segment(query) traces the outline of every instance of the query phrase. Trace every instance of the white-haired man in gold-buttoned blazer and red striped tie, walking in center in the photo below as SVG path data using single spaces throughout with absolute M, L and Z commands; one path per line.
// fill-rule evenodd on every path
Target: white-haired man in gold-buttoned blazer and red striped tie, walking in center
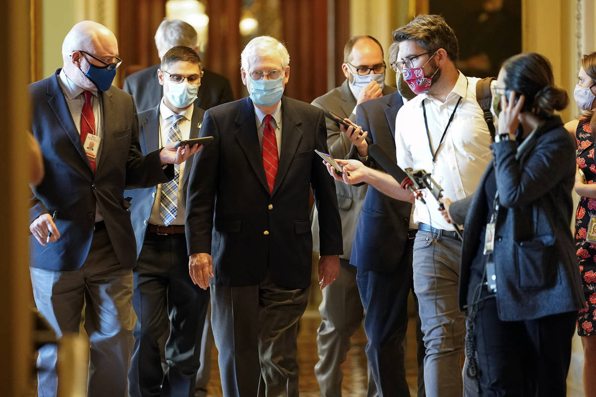
M 210 286 L 224 396 L 297 396 L 297 324 L 311 285 L 309 189 L 319 210 L 321 289 L 339 274 L 342 254 L 335 186 L 315 154 L 327 152 L 325 116 L 283 96 L 290 57 L 278 40 L 252 39 L 241 60 L 250 96 L 205 113 L 201 136 L 215 139 L 190 171 L 190 274 Z

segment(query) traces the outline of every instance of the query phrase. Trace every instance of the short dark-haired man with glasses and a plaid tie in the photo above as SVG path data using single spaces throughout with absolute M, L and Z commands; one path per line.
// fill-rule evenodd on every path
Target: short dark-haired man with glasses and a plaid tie
M 163 98 L 153 109 L 139 113 L 143 154 L 169 142 L 198 137 L 203 121 L 204 110 L 195 105 L 203 70 L 193 49 L 169 49 L 157 76 Z M 131 397 L 194 396 L 195 374 L 202 364 L 201 335 L 209 292 L 194 285 L 188 276 L 184 218 L 193 158 L 175 166 L 170 182 L 126 192 L 132 197 L 131 220 L 138 255 L 133 272 L 132 304 L 137 322 L 129 371 Z M 165 373 L 159 344 L 164 333 L 169 333 Z

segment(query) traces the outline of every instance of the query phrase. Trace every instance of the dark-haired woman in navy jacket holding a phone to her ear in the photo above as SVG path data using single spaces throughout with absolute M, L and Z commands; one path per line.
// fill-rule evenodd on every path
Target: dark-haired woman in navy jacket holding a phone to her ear
M 576 312 L 583 307 L 569 224 L 575 142 L 555 110 L 567 93 L 550 62 L 508 58 L 493 86 L 493 161 L 468 202 L 460 271 L 467 357 L 483 396 L 565 396 Z M 474 360 L 471 360 L 474 361 Z

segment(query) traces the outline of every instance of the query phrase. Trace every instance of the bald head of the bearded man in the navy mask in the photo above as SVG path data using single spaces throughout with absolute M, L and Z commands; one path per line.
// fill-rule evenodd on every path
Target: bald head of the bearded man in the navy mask
M 85 54 L 86 53 L 86 54 Z M 91 56 L 92 55 L 92 56 Z M 104 67 L 113 63 L 118 55 L 118 42 L 110 29 L 94 21 L 82 21 L 70 29 L 62 43 L 63 70 L 77 86 L 85 90 L 96 90 L 85 73 L 91 65 Z M 95 57 L 95 58 L 93 58 Z

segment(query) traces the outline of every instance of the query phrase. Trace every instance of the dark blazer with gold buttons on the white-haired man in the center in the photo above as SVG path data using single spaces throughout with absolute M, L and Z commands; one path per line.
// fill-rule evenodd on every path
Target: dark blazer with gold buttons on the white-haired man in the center
M 258 285 L 267 270 L 278 286 L 311 285 L 309 188 L 321 214 L 321 255 L 342 254 L 333 179 L 314 152 L 327 151 L 325 116 L 285 96 L 281 111 L 280 163 L 272 194 L 250 98 L 205 113 L 200 135 L 215 140 L 193 162 L 186 235 L 189 254 L 212 253 L 216 285 Z

